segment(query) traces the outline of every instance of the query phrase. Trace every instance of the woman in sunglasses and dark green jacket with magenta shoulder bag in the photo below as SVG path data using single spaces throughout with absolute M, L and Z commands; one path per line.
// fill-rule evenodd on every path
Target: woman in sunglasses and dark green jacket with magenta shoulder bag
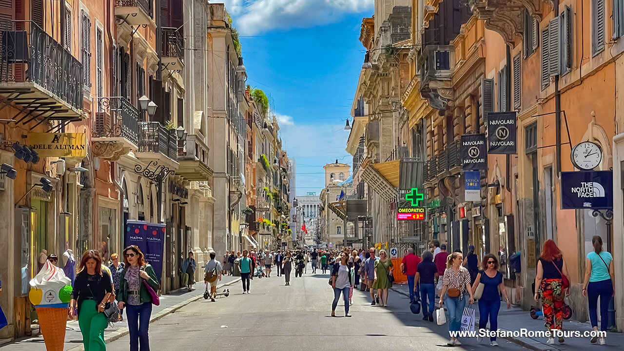
M 124 249 L 125 269 L 120 275 L 119 309 L 126 308 L 130 329 L 130 351 L 150 350 L 149 325 L 152 317 L 152 295 L 145 283 L 158 291 L 160 282 L 154 268 L 145 262 L 139 247 L 130 245 Z

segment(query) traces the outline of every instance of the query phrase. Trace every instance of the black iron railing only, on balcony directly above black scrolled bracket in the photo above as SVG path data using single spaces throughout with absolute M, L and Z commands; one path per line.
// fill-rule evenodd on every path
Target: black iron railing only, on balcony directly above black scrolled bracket
M 160 152 L 177 160 L 178 142 L 175 129 L 168 130 L 159 122 L 139 122 L 139 152 Z

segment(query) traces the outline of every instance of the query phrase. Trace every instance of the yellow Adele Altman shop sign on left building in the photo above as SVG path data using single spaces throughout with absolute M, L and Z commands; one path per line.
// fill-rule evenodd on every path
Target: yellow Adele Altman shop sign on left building
M 26 144 L 41 157 L 85 157 L 84 133 L 28 133 Z

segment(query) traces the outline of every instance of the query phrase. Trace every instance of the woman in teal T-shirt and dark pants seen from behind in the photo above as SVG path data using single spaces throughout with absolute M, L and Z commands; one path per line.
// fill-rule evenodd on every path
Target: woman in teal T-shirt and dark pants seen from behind
M 589 300 L 589 319 L 593 330 L 598 330 L 598 297 L 600 297 L 600 330 L 607 331 L 607 310 L 609 301 L 615 296 L 613 289 L 613 256 L 602 250 L 602 238 L 594 235 L 592 238 L 593 252 L 587 254 L 585 260 L 585 280 L 583 281 L 583 295 Z M 598 341 L 597 336 L 590 339 L 592 344 Z M 605 345 L 605 338 L 600 338 L 600 345 Z

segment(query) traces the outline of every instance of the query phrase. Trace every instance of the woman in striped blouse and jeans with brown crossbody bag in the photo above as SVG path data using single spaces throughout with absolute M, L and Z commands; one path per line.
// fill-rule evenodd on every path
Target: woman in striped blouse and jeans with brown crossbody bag
M 470 289 L 470 273 L 462 262 L 464 258 L 461 252 L 453 252 L 446 260 L 446 270 L 442 279 L 442 292 L 440 294 L 440 307 L 446 305 L 446 320 L 449 322 L 450 332 L 459 332 L 462 326 L 462 315 L 466 307 L 466 293 L 470 296 L 469 303 L 474 303 L 472 289 Z M 459 346 L 457 337 L 452 337 L 447 345 Z

